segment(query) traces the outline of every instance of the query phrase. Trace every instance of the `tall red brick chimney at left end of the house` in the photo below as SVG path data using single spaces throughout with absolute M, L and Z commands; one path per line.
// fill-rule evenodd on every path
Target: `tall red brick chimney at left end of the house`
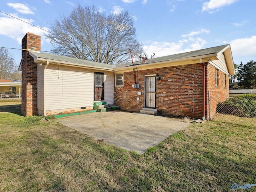
M 24 50 L 25 49 L 25 50 Z M 27 33 L 22 39 L 22 100 L 24 116 L 38 114 L 37 109 L 37 65 L 28 51 L 41 51 L 41 36 Z

